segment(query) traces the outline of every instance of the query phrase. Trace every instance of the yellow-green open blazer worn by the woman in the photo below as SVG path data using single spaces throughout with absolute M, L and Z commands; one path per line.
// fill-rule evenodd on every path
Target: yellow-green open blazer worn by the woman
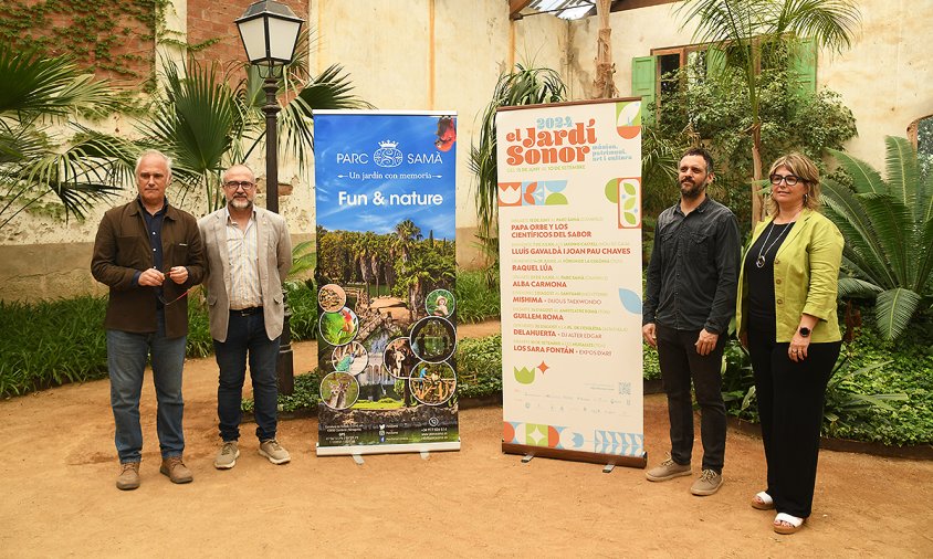
M 747 325 L 745 306 L 748 286 L 745 281 L 745 259 L 765 228 L 774 220 L 758 223 L 752 242 L 742 256 L 738 276 L 738 296 L 735 309 L 735 329 L 741 335 Z M 777 341 L 790 341 L 800 315 L 813 315 L 819 320 L 810 334 L 810 341 L 818 344 L 842 339 L 836 315 L 836 295 L 839 287 L 839 264 L 842 261 L 842 234 L 819 212 L 806 209 L 797 218 L 787 239 L 780 244 L 774 260 L 774 300 L 777 318 Z

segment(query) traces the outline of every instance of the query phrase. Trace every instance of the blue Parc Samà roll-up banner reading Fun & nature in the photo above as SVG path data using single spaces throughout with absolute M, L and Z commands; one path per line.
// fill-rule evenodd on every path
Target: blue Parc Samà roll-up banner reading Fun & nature
M 460 449 L 454 113 L 317 110 L 318 455 Z

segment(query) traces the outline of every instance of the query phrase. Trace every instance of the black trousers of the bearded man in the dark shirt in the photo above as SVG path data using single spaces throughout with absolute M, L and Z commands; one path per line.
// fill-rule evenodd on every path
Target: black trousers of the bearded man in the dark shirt
M 722 357 L 725 336 L 720 336 L 710 355 L 696 352 L 700 330 L 677 330 L 656 325 L 658 362 L 668 395 L 671 420 L 671 458 L 690 464 L 693 453 L 693 400 L 690 383 L 700 404 L 700 439 L 703 470 L 722 473 L 725 457 L 725 404 L 722 394 Z

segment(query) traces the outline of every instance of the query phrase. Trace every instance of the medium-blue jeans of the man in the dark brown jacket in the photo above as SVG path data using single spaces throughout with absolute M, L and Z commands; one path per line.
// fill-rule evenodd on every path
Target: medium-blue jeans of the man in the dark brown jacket
M 119 462 L 139 462 L 143 457 L 143 430 L 139 426 L 139 395 L 146 360 L 153 358 L 153 384 L 158 412 L 156 432 L 163 458 L 180 456 L 185 451 L 181 419 L 181 368 L 185 365 L 186 337 L 166 338 L 165 317 L 158 313 L 155 334 L 107 330 L 107 368 L 111 375 L 111 408 L 116 424 Z

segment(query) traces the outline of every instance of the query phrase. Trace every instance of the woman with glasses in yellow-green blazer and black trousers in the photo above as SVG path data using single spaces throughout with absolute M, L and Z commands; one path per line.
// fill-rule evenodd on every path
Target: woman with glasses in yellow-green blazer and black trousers
M 813 161 L 787 155 L 769 178 L 769 217 L 742 260 L 735 321 L 752 357 L 768 468 L 767 489 L 752 506 L 777 509 L 774 530 L 794 534 L 810 516 L 826 384 L 841 347 L 836 294 L 843 241 L 817 211 Z

